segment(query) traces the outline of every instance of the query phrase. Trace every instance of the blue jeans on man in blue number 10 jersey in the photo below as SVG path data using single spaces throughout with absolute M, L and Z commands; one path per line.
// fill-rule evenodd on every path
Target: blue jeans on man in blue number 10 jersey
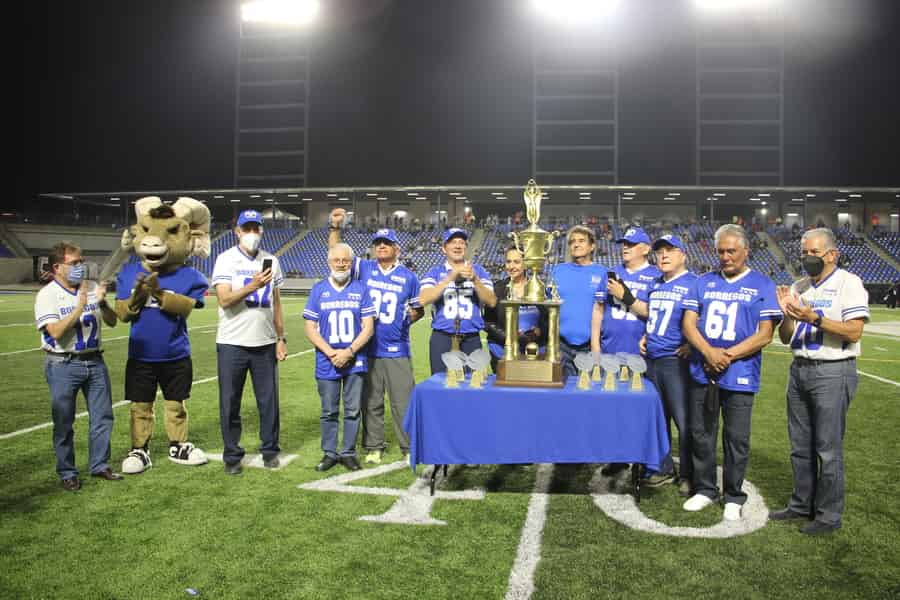
M 363 375 L 351 373 L 341 379 L 317 379 L 322 401 L 322 451 L 331 457 L 356 456 L 356 435 L 359 433 L 359 403 L 362 399 Z M 344 435 L 341 450 L 337 449 L 338 415 L 341 410 L 341 388 L 344 391 Z

